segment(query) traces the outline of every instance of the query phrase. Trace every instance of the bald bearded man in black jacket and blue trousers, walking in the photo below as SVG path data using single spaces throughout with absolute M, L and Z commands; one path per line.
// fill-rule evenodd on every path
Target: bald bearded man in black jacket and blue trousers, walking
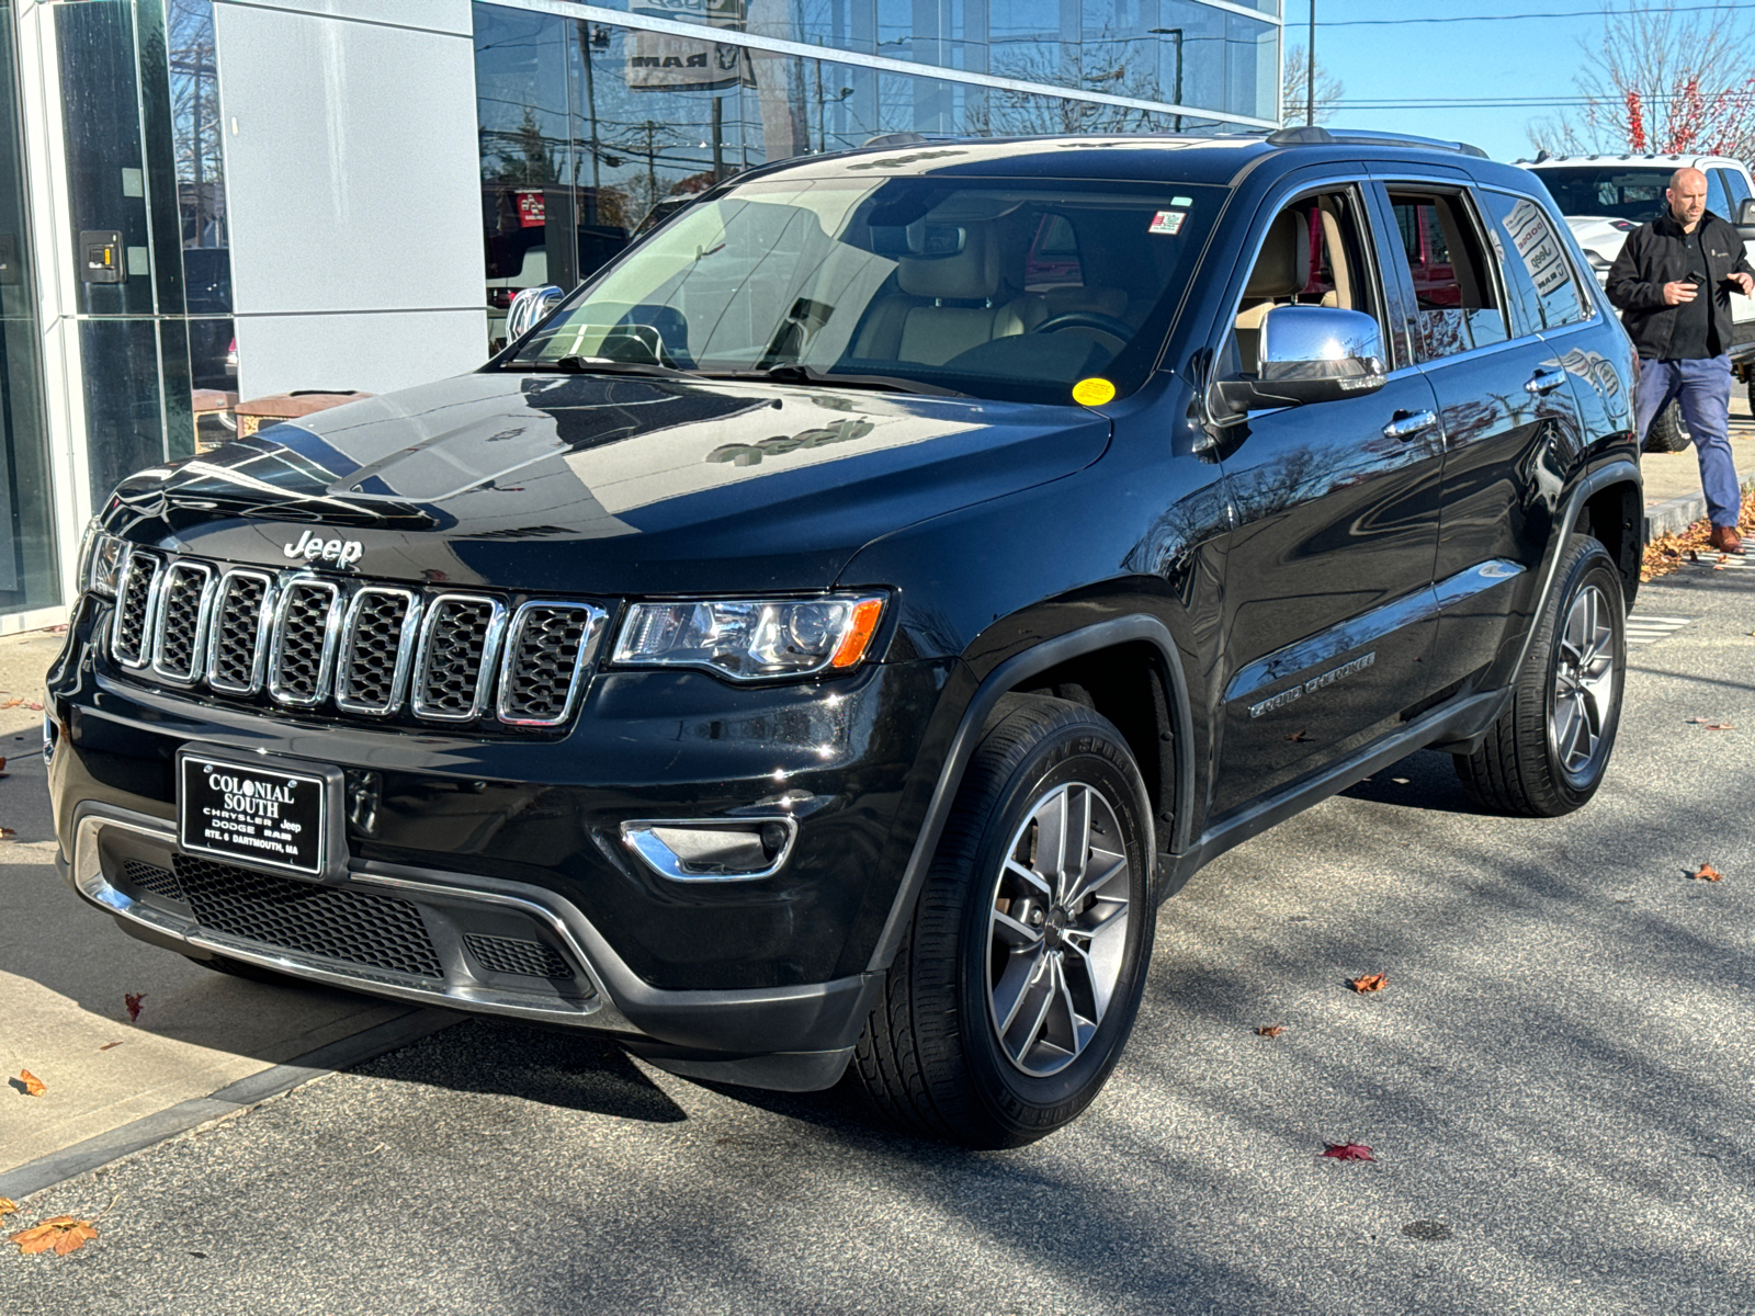
M 1755 270 L 1729 221 L 1706 209 L 1706 175 L 1678 168 L 1664 212 L 1634 230 L 1609 268 L 1609 300 L 1639 351 L 1639 442 L 1651 419 L 1681 402 L 1701 460 L 1711 546 L 1743 553 L 1743 495 L 1730 456 L 1730 290 L 1755 295 Z

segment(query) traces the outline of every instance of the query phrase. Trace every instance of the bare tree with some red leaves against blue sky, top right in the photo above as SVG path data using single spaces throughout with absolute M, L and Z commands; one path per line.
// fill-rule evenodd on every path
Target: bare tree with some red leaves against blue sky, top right
M 1555 153 L 1632 151 L 1755 156 L 1755 56 L 1737 11 L 1604 11 L 1602 35 L 1580 40 L 1572 79 L 1583 105 L 1529 125 Z

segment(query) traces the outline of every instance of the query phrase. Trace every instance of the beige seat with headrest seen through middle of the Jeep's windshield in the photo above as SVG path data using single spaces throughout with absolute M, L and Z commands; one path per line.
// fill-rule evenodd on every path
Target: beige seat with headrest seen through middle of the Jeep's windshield
M 1028 333 L 1048 318 L 1041 297 L 993 304 L 1002 283 L 1000 246 L 985 225 L 967 226 L 963 249 L 955 256 L 904 256 L 895 274 L 902 291 L 872 307 L 853 346 L 855 356 L 944 365 L 983 342 Z

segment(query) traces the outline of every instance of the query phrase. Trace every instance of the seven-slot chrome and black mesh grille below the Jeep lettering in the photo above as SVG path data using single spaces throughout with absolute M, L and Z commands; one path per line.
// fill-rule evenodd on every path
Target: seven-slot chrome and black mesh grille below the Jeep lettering
M 111 653 L 137 676 L 295 709 L 560 726 L 577 709 L 609 612 L 353 581 L 230 570 L 133 551 Z M 504 640 L 504 642 L 502 642 Z

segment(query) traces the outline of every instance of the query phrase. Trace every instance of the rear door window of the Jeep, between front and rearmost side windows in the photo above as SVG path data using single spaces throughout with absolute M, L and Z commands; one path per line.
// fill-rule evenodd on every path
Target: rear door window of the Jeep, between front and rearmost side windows
M 1390 188 L 1418 311 L 1422 361 L 1509 337 L 1474 214 L 1462 197 Z

